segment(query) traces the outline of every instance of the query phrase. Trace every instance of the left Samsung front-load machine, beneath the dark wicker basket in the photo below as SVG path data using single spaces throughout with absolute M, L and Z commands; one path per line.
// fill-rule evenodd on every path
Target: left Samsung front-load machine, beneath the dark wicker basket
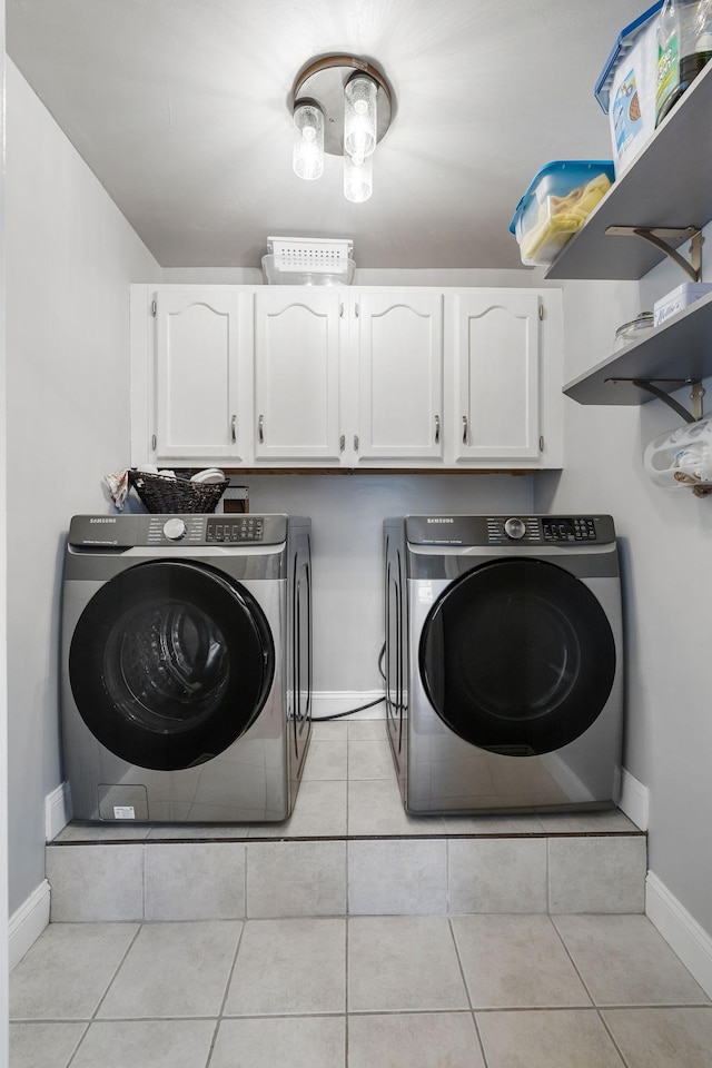
M 279 821 L 312 714 L 310 522 L 79 515 L 62 589 L 75 819 Z

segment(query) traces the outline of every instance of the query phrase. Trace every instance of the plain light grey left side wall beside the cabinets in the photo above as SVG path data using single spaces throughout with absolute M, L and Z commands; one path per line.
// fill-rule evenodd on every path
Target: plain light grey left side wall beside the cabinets
M 7 61 L 10 910 L 44 878 L 44 795 L 61 781 L 63 533 L 106 511 L 129 456 L 128 287 L 159 268 Z

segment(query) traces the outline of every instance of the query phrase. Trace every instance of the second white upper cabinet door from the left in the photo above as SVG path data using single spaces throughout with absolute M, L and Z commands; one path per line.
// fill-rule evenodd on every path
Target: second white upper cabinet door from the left
M 343 297 L 265 287 L 255 299 L 255 458 L 339 463 Z

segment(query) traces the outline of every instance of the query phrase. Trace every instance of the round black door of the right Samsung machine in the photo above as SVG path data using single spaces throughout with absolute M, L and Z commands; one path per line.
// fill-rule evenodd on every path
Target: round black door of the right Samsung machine
M 602 712 L 615 641 L 601 604 L 555 564 L 483 564 L 442 594 L 423 627 L 421 678 L 447 726 L 513 756 L 561 749 Z

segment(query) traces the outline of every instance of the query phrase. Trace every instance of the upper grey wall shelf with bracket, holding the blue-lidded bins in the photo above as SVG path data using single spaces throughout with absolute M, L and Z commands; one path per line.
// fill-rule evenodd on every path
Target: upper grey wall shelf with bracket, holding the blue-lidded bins
M 664 256 L 610 226 L 702 227 L 712 218 L 712 63 L 564 246 L 547 278 L 637 279 Z M 611 402 L 606 402 L 611 403 Z M 624 402 L 631 403 L 631 402 Z

